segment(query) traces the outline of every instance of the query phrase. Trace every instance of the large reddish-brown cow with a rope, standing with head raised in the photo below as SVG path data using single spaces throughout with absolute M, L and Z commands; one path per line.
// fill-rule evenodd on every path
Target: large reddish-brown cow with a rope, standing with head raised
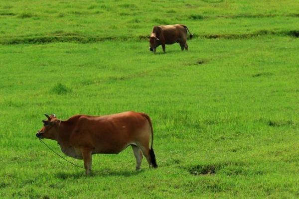
M 54 114 L 45 115 L 48 119 L 43 120 L 44 126 L 36 136 L 56 140 L 65 155 L 83 159 L 86 175 L 91 171 L 92 154 L 118 154 L 129 145 L 136 158 L 136 170 L 140 169 L 143 155 L 149 167 L 157 167 L 152 149 L 151 120 L 145 113 L 129 111 L 104 116 L 74 115 L 67 120 L 57 119 Z

